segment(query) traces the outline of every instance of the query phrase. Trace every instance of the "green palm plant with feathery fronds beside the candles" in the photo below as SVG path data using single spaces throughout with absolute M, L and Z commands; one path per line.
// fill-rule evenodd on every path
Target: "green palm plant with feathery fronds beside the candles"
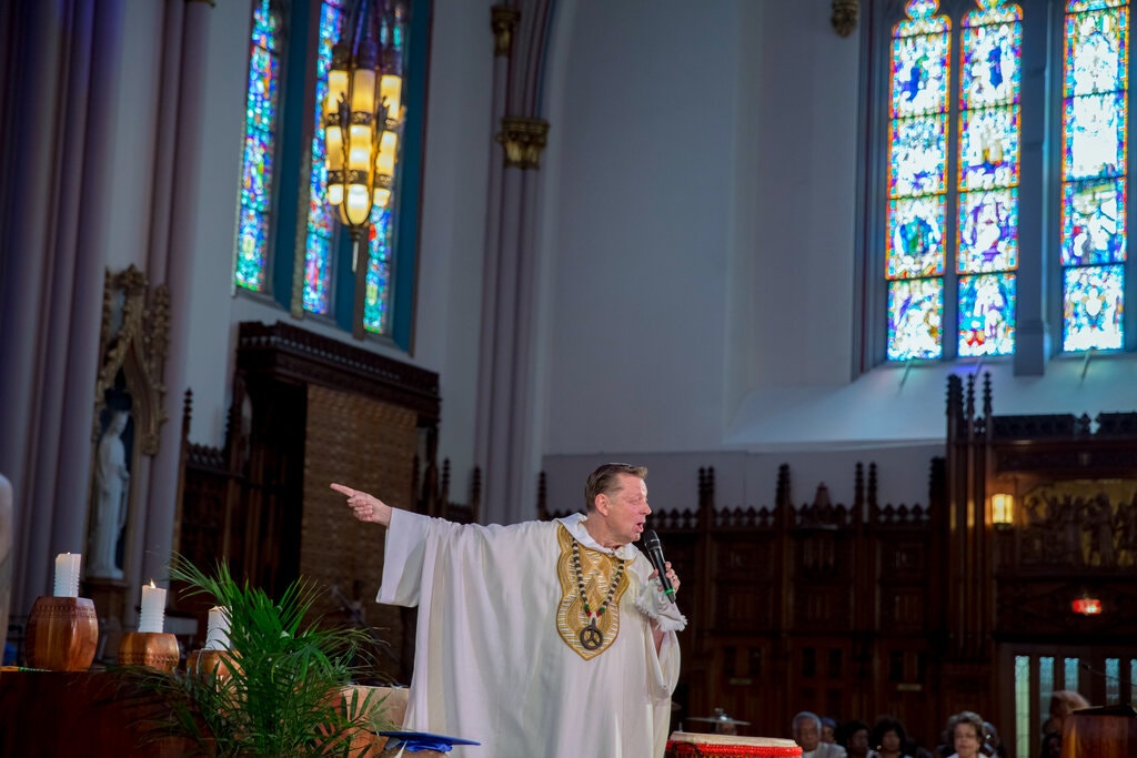
M 384 698 L 349 688 L 358 673 L 354 661 L 371 638 L 309 622 L 316 588 L 297 580 L 274 601 L 234 580 L 224 564 L 210 575 L 180 556 L 171 578 L 184 582 L 189 595 L 209 595 L 225 608 L 229 647 L 209 672 L 122 669 L 155 706 L 148 709 L 144 740 L 179 739 L 191 755 L 211 758 L 377 752 L 367 738 L 393 726 L 383 716 Z

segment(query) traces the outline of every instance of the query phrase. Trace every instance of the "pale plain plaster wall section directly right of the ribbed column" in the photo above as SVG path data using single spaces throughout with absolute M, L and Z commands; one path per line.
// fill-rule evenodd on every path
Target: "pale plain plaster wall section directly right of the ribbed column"
M 566 18 L 546 455 L 717 445 L 737 3 L 580 0 Z

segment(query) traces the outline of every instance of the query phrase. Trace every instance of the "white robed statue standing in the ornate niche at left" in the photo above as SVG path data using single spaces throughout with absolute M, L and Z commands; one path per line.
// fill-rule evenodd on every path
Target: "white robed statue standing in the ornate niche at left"
M 126 526 L 131 473 L 126 466 L 124 432 L 130 419 L 125 410 L 111 411 L 110 422 L 99 438 L 94 461 L 94 509 L 91 530 L 90 577 L 123 577 L 118 565 L 118 540 Z

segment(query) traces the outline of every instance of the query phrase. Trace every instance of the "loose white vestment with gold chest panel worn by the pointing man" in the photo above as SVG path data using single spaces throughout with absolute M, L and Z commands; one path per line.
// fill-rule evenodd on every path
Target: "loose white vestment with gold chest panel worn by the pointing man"
M 600 548 L 583 519 L 481 526 L 393 511 L 377 599 L 418 606 L 405 730 L 481 743 L 455 747 L 455 758 L 662 758 L 679 678 L 674 630 L 686 619 L 673 606 L 662 615 L 670 631 L 657 655 L 640 609 L 659 592 L 646 586 L 650 561 L 634 545 Z M 573 538 L 584 564 L 575 572 Z M 617 589 L 600 616 L 603 645 L 586 650 L 578 577 L 588 584 L 591 566 L 616 559 L 623 578 L 609 570 L 615 581 L 592 594 L 595 613 Z

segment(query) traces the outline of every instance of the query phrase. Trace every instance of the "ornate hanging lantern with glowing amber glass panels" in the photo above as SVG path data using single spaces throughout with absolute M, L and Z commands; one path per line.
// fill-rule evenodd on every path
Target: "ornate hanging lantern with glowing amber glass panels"
M 351 233 L 357 293 L 366 278 L 359 245 L 372 210 L 390 202 L 404 116 L 398 3 L 379 0 L 377 6 L 360 0 L 345 25 L 332 48 L 324 100 L 327 201 Z

